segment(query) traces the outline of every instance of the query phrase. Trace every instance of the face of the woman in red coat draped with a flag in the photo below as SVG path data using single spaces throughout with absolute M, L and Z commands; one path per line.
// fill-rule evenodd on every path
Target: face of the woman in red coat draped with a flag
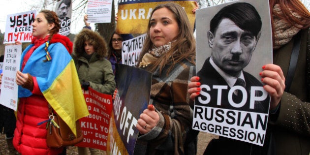
M 45 36 L 54 28 L 55 24 L 49 24 L 44 16 L 44 13 L 37 14 L 32 23 L 32 35 L 38 38 L 45 38 Z

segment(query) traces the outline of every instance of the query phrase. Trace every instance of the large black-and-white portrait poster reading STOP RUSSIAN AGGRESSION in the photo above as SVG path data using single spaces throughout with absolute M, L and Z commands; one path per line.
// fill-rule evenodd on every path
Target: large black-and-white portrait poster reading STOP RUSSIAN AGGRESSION
M 259 72 L 272 63 L 268 0 L 198 9 L 196 35 L 201 92 L 192 128 L 263 146 L 270 96 Z

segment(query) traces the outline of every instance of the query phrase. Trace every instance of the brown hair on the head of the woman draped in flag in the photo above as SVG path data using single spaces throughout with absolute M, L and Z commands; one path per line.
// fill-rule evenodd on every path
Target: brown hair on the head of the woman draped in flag
M 51 10 L 41 10 L 39 13 L 44 14 L 44 17 L 46 18 L 48 24 L 52 24 L 52 23 L 55 24 L 54 28 L 52 30 L 50 30 L 49 40 L 51 40 L 52 36 L 54 34 L 57 34 L 59 29 L 60 29 L 59 18 L 57 16 L 57 14 Z

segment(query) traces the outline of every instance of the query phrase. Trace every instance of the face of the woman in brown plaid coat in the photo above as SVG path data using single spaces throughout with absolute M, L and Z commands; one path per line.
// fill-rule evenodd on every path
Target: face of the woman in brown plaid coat
M 173 41 L 179 33 L 178 22 L 174 14 L 165 7 L 154 11 L 150 25 L 151 41 L 156 47 Z

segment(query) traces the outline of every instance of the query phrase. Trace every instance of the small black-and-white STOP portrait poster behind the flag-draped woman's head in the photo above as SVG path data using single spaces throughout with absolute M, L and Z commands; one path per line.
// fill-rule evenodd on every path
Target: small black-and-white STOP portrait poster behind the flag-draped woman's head
M 59 34 L 69 35 L 71 28 L 71 12 L 72 1 L 71 0 L 59 0 L 56 4 L 55 12 L 60 21 Z

